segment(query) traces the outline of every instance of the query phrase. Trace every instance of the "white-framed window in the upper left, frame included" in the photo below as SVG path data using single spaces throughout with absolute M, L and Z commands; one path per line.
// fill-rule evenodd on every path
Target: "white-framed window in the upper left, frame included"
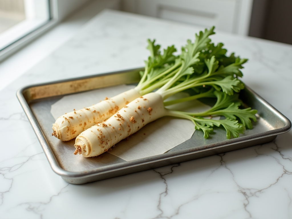
M 0 0 L 0 61 L 90 1 Z

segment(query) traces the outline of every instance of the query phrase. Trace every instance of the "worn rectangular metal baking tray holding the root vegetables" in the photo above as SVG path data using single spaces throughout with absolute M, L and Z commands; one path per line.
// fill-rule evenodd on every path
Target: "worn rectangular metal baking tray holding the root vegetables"
M 239 138 L 227 140 L 224 129 L 216 128 L 216 135 L 204 139 L 203 132 L 194 132 L 192 138 L 164 154 L 133 161 L 125 161 L 109 153 L 99 157 L 74 156 L 74 141 L 62 142 L 52 137 L 55 119 L 50 113 L 51 105 L 64 95 L 89 91 L 119 84 L 133 84 L 140 80 L 139 71 L 132 69 L 98 74 L 21 88 L 17 97 L 55 173 L 65 181 L 82 184 L 125 175 L 151 168 L 206 157 L 274 140 L 277 135 L 288 132 L 291 122 L 263 100 L 250 88 L 240 93 L 248 107 L 258 110 L 254 128 L 246 130 Z

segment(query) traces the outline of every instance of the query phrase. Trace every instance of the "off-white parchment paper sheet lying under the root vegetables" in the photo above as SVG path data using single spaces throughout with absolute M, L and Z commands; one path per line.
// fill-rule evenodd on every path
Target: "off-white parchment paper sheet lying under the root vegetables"
M 67 95 L 53 105 L 51 105 L 51 114 L 55 119 L 59 116 L 71 112 L 74 109 L 82 109 L 91 106 L 105 97 L 112 97 L 121 92 L 134 88 L 133 85 L 120 85 L 109 88 L 102 88 L 94 91 L 87 91 L 78 94 Z M 210 107 L 199 102 L 189 101 L 183 104 L 172 105 L 169 109 L 180 109 L 188 112 L 200 112 Z M 220 117 L 213 118 L 219 119 Z M 187 119 L 175 119 L 172 117 L 162 117 L 150 124 L 147 124 L 138 132 L 129 138 L 122 140 L 115 147 L 112 147 L 111 153 L 126 161 L 150 157 L 163 154 L 173 147 L 190 139 L 194 133 L 194 124 Z M 72 153 L 74 150 L 72 150 Z M 84 158 L 86 159 L 86 158 Z

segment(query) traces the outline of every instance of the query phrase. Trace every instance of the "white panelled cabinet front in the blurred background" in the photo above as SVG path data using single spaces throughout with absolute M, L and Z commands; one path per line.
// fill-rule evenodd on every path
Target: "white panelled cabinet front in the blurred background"
M 253 0 L 122 0 L 122 10 L 248 35 Z

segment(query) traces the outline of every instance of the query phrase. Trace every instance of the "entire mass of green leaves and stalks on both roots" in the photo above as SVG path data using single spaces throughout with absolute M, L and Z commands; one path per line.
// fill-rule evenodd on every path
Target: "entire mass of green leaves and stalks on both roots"
M 213 126 L 223 126 L 227 138 L 236 138 L 245 128 L 252 128 L 256 121 L 256 110 L 241 109 L 239 91 L 244 84 L 241 69 L 247 59 L 236 57 L 234 53 L 227 55 L 223 43 L 215 45 L 209 36 L 214 34 L 214 27 L 195 35 L 195 40 L 187 40 L 181 54 L 173 55 L 177 50 L 169 46 L 161 54 L 160 46 L 155 40 L 148 40 L 147 49 L 150 56 L 145 61 L 145 71 L 141 72 L 141 80 L 137 86 L 141 95 L 158 88 L 164 100 L 178 92 L 191 95 L 187 98 L 165 102 L 165 106 L 199 98 L 217 98 L 217 101 L 206 112 L 188 113 L 166 110 L 170 116 L 190 119 L 195 129 L 202 130 L 208 138 Z M 212 120 L 206 116 L 223 116 L 225 119 Z

